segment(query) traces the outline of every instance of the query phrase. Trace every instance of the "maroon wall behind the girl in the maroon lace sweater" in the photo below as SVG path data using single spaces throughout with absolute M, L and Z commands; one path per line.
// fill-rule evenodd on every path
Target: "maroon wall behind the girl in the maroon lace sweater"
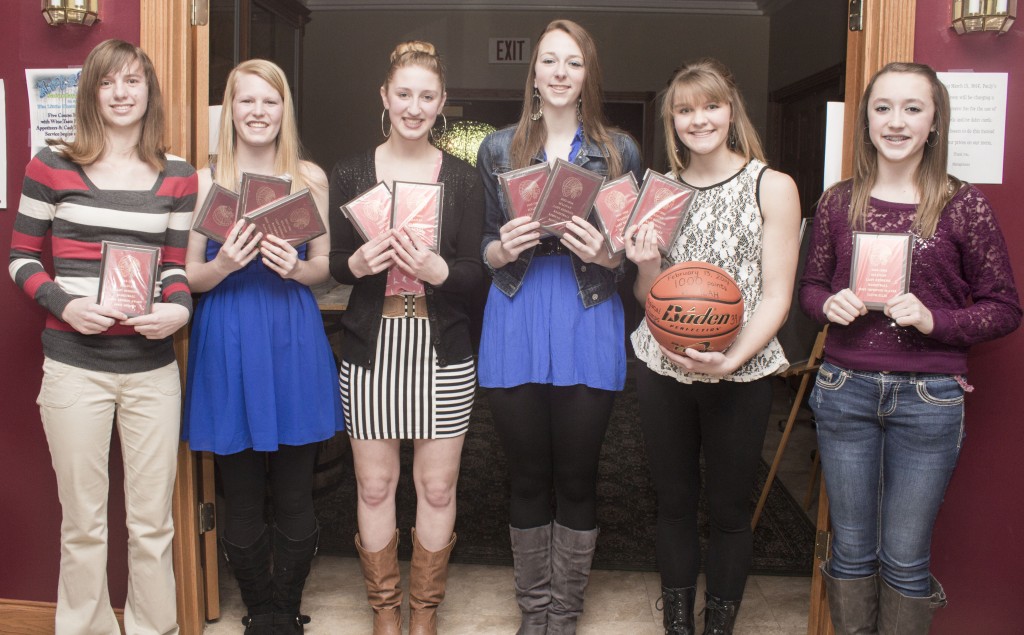
M 918 2 L 914 61 L 937 71 L 1009 73 L 1007 138 L 1001 185 L 979 187 L 996 210 L 1010 245 L 1018 288 L 1024 288 L 1024 19 L 1004 36 L 957 36 L 947 0 Z M 1024 16 L 1021 16 L 1024 17 Z M 971 353 L 967 438 L 939 514 L 933 572 L 949 605 L 932 633 L 1020 633 L 1024 564 L 1024 331 L 977 346 Z

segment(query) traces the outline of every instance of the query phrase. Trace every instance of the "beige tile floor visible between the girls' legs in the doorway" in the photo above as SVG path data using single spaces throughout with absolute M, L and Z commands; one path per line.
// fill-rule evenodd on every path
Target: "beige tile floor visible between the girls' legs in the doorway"
M 764 459 L 769 465 L 781 436 L 779 420 L 788 414 L 784 387 L 776 392 L 774 414 L 768 425 Z M 804 413 L 806 415 L 807 413 Z M 794 428 L 779 468 L 779 479 L 797 501 L 803 501 L 810 477 L 814 431 L 806 417 Z M 808 515 L 817 514 L 816 503 Z M 409 563 L 402 562 L 403 579 Z M 698 581 L 697 606 L 702 604 L 703 579 Z M 810 578 L 756 576 L 746 583 L 736 635 L 803 635 L 807 632 Z M 595 570 L 587 589 L 580 635 L 662 635 L 657 574 Z M 239 634 L 244 606 L 228 570 L 221 567 L 221 618 L 207 625 L 206 635 Z M 373 613 L 367 605 L 366 587 L 358 561 L 318 557 L 306 585 L 302 610 L 312 617 L 309 635 L 370 635 Z M 406 604 L 408 611 L 408 599 Z M 518 627 L 518 607 L 512 569 L 479 564 L 453 564 L 447 597 L 438 612 L 438 632 L 444 635 L 511 635 Z M 408 622 L 408 619 L 407 619 Z M 700 621 L 698 618 L 697 625 Z

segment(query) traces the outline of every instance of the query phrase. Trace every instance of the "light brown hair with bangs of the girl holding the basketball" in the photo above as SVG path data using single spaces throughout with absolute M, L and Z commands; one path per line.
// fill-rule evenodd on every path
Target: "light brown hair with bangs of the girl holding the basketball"
M 729 150 L 743 157 L 745 161 L 757 159 L 767 163 L 761 137 L 751 123 L 743 105 L 743 97 L 736 87 L 732 71 L 713 57 L 701 57 L 679 67 L 669 80 L 669 86 L 662 95 L 662 124 L 665 128 L 665 146 L 669 152 L 669 165 L 672 172 L 679 178 L 681 172 L 690 164 L 690 151 L 676 134 L 673 123 L 672 107 L 682 100 L 695 104 L 697 101 L 717 101 L 728 103 L 732 111 L 732 122 L 729 125 L 731 139 Z

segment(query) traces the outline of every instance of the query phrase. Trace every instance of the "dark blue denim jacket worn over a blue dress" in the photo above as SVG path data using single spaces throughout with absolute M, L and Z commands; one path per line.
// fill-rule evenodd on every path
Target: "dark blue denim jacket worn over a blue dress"
M 488 134 L 477 153 L 476 168 L 480 171 L 480 177 L 483 179 L 486 210 L 483 218 L 483 241 L 480 245 L 481 257 L 492 241 L 500 240 L 499 232 L 502 225 L 512 217 L 506 211 L 508 204 L 505 201 L 505 193 L 498 184 L 498 175 L 512 169 L 510 150 L 513 134 L 515 134 L 514 126 Z M 643 178 L 643 174 L 640 165 L 640 151 L 637 149 L 636 141 L 622 132 L 612 132 L 611 138 L 622 156 L 623 169 L 633 172 L 637 182 L 639 182 Z M 539 155 L 534 158 L 534 163 L 542 161 L 544 161 L 543 156 Z M 584 139 L 583 147 L 581 147 L 573 163 L 598 174 L 607 175 L 608 173 L 608 165 L 600 147 L 588 138 Z M 593 223 L 593 221 L 591 222 Z M 584 306 L 591 307 L 599 304 L 615 293 L 615 283 L 622 274 L 622 267 L 617 270 L 611 270 L 599 264 L 588 264 L 580 260 L 575 254 L 569 254 L 569 257 L 572 259 L 572 273 L 575 276 L 577 286 L 580 288 L 580 299 Z M 526 277 L 526 270 L 532 259 L 534 250 L 527 249 L 519 254 L 519 258 L 515 262 L 510 262 L 500 269 L 492 268 L 485 257 L 483 263 L 487 265 L 494 277 L 495 287 L 505 295 L 512 297 L 522 286 L 522 280 Z

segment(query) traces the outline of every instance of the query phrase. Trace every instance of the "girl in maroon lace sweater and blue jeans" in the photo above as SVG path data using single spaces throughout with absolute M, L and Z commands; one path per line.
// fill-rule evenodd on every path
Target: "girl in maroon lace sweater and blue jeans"
M 899 613 L 925 633 L 945 604 L 931 536 L 964 434 L 968 347 L 1016 329 L 1021 308 L 992 209 L 946 174 L 935 72 L 882 69 L 855 129 L 854 176 L 818 204 L 800 289 L 831 323 L 811 394 L 834 528 L 821 569 L 837 632 L 885 631 Z M 909 291 L 881 310 L 849 288 L 853 230 L 910 235 Z

